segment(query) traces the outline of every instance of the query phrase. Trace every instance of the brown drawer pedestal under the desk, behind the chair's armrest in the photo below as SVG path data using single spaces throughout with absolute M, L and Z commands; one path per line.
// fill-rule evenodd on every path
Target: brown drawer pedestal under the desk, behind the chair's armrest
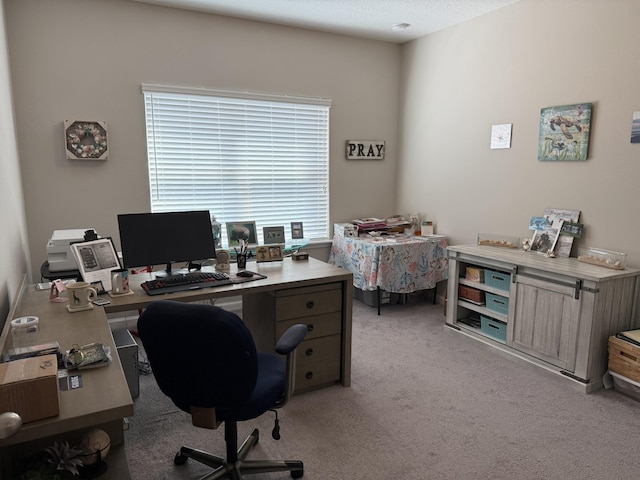
M 243 317 L 260 351 L 274 351 L 291 325 L 307 326 L 307 336 L 296 350 L 294 393 L 340 380 L 342 283 L 328 283 L 251 295 L 243 300 Z

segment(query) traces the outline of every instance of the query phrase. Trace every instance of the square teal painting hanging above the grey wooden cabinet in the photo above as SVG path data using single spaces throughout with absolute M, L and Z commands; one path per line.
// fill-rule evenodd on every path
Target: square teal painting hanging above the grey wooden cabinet
M 586 160 L 591 131 L 591 103 L 540 110 L 538 160 Z

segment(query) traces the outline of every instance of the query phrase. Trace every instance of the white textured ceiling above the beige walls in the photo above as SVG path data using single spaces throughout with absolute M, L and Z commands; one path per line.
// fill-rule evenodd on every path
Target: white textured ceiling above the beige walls
M 404 43 L 518 0 L 134 0 Z M 400 32 L 395 24 L 410 26 Z

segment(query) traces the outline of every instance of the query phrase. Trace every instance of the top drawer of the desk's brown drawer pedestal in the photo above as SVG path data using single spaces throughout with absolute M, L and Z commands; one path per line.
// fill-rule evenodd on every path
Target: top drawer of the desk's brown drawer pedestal
M 275 310 L 276 322 L 339 312 L 342 310 L 342 290 L 332 289 L 277 297 Z

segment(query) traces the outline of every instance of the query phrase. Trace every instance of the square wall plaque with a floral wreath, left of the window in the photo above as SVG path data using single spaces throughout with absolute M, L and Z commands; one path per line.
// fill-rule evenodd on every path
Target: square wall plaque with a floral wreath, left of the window
M 65 122 L 67 158 L 74 160 L 107 158 L 107 126 L 103 122 Z

